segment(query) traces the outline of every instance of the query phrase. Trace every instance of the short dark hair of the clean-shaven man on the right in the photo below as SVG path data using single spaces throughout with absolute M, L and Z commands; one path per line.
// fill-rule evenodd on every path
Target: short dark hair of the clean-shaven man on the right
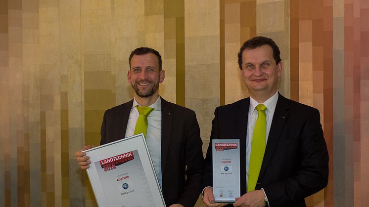
M 239 66 L 239 69 L 242 70 L 242 52 L 244 50 L 255 49 L 255 48 L 263 46 L 265 44 L 268 44 L 269 46 L 272 47 L 273 57 L 276 60 L 276 64 L 278 64 L 281 61 L 281 59 L 280 59 L 280 51 L 279 51 L 279 48 L 278 48 L 276 42 L 273 41 L 270 38 L 258 36 L 258 37 L 254 37 L 254 38 L 252 38 L 248 41 L 245 41 L 243 43 L 243 45 L 241 46 L 241 48 L 239 49 L 239 52 L 238 52 L 238 66 Z

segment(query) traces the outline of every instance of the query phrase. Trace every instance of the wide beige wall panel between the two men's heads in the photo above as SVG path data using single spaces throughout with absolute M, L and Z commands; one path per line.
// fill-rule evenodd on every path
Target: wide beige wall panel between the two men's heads
M 203 151 L 220 103 L 219 2 L 185 0 L 185 106 L 196 112 Z

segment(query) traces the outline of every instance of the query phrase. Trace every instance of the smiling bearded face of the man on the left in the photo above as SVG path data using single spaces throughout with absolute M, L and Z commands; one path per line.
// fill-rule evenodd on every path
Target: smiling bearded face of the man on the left
M 146 99 L 147 102 L 147 99 L 150 99 L 155 102 L 159 96 L 159 83 L 164 81 L 165 72 L 159 70 L 158 57 L 153 53 L 147 53 L 132 57 L 127 77 L 135 90 L 136 100 Z M 151 103 L 150 100 L 148 101 Z

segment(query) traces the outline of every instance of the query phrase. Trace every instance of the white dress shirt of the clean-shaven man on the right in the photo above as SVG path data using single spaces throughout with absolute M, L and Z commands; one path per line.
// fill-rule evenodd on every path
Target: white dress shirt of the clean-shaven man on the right
M 262 103 L 267 107 L 267 109 L 265 110 L 266 121 L 267 121 L 267 133 L 266 133 L 267 137 L 265 140 L 265 144 L 268 143 L 269 131 L 272 125 L 274 111 L 276 110 L 277 100 L 278 100 L 278 91 L 276 92 L 276 94 L 274 94 L 264 103 Z M 255 127 L 256 120 L 258 119 L 258 110 L 256 110 L 256 106 L 259 104 L 260 103 L 258 103 L 255 99 L 251 98 L 250 96 L 250 107 L 249 107 L 249 113 L 248 113 L 247 135 L 246 135 L 246 180 L 247 182 L 248 182 L 248 177 L 249 177 L 249 164 L 250 164 L 250 155 L 251 155 L 252 135 L 254 133 L 254 127 Z

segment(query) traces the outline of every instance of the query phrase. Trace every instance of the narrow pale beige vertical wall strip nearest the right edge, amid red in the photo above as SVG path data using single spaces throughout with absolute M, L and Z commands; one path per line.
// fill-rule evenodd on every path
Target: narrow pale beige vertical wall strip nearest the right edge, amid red
M 345 27 L 345 10 L 344 0 L 337 1 L 333 4 L 333 136 L 334 149 L 344 153 L 334 154 L 333 171 L 340 172 L 342 179 L 334 179 L 337 174 L 330 172 L 330 181 L 334 181 L 334 188 L 329 188 L 329 192 L 335 195 L 333 203 L 341 203 L 345 206 L 353 206 L 353 135 L 350 124 L 345 124 L 346 121 L 352 122 L 352 94 L 345 93 L 345 88 L 351 88 L 352 81 L 345 77 L 345 68 L 347 61 L 345 56 L 345 34 L 350 33 L 350 28 Z M 352 39 L 350 40 L 352 41 Z M 347 42 L 348 43 L 348 42 Z M 350 78 L 352 79 L 352 77 Z M 351 82 L 351 83 L 350 83 Z M 340 94 L 340 95 L 338 95 Z M 346 101 L 351 103 L 345 103 Z M 346 106 L 345 106 L 346 105 Z M 344 113 L 342 113 L 344 112 Z M 346 133 L 346 135 L 345 135 Z M 332 158 L 331 158 L 332 159 Z M 352 193 L 346 193 L 346 192 Z M 351 194 L 351 195 L 350 195 Z M 330 203 L 333 206 L 333 203 Z

